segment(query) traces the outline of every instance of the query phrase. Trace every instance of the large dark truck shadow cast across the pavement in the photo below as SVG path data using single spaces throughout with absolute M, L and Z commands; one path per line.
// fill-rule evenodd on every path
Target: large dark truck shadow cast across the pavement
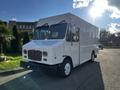
M 99 62 L 88 62 L 68 78 L 31 72 L 1 85 L 0 90 L 104 90 L 104 83 Z

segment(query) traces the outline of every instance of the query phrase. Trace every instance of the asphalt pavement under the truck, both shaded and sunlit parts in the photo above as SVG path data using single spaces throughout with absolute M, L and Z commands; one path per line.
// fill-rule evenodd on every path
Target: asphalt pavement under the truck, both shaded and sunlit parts
M 0 90 L 120 90 L 120 49 L 104 49 L 95 62 L 75 68 L 68 78 L 25 71 L 0 75 Z

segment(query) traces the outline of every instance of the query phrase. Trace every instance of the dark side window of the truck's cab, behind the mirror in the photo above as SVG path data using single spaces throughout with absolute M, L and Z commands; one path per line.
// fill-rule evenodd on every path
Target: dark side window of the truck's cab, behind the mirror
M 66 40 L 72 41 L 72 42 L 78 42 L 79 41 L 79 28 L 76 28 L 75 26 L 71 27 L 67 31 Z

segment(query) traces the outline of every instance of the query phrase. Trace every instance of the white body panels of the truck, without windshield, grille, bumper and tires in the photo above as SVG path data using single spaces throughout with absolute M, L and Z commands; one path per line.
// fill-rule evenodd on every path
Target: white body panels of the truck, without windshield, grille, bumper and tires
M 73 67 L 76 67 L 90 60 L 92 52 L 96 55 L 99 38 L 98 28 L 73 14 L 66 13 L 40 19 L 37 27 L 45 24 L 51 26 L 60 22 L 67 23 L 64 38 L 32 40 L 23 46 L 23 61 L 31 61 L 46 65 L 56 65 L 63 63 L 66 57 L 70 57 Z M 71 33 L 77 33 L 77 36 L 73 39 L 78 40 L 67 40 L 66 38 L 68 31 L 71 31 Z M 24 50 L 26 50 L 27 53 L 24 53 Z M 41 55 L 41 60 L 33 60 L 29 58 L 29 50 L 37 50 L 41 51 L 41 53 L 46 52 L 48 55 Z

